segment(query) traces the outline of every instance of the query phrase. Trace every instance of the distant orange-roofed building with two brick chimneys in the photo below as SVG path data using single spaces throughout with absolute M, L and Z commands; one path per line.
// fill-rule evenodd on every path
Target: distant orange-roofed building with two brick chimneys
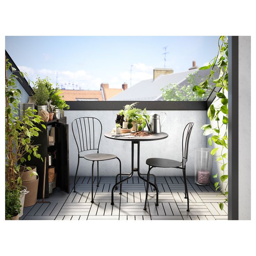
M 109 88 L 108 83 L 101 83 L 100 90 L 67 90 L 62 87 L 62 95 L 65 101 L 107 101 L 126 89 L 127 83 L 122 84 L 122 89 Z

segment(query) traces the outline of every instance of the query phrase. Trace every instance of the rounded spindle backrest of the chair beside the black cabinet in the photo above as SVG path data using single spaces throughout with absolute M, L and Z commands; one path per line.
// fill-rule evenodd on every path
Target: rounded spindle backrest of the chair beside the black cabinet
M 72 121 L 72 132 L 77 144 L 78 153 L 96 149 L 99 152 L 102 124 L 97 118 L 80 117 L 74 119 Z

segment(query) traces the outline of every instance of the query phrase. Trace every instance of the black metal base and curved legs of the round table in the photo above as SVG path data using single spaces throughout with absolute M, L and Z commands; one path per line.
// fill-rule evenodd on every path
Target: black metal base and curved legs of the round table
M 134 144 L 137 144 L 137 146 L 138 146 L 137 168 L 134 168 Z M 147 180 L 145 178 L 143 178 L 143 175 L 147 175 L 147 174 L 141 174 L 139 172 L 139 141 L 132 141 L 131 142 L 131 173 L 118 174 L 115 178 L 115 185 L 113 186 L 112 191 L 111 191 L 111 205 L 114 205 L 114 190 L 117 189 L 118 185 L 120 184 L 120 194 L 122 194 L 122 183 L 127 181 L 129 178 L 133 177 L 133 174 L 134 174 L 135 171 L 137 171 L 139 178 L 141 178 L 143 181 L 147 182 Z M 119 175 L 120 175 L 120 181 L 117 182 L 117 178 L 118 178 Z M 123 176 L 123 175 L 129 175 L 129 177 L 127 177 L 125 179 L 121 179 L 121 176 Z M 153 174 L 151 174 L 150 176 L 154 177 L 154 184 L 152 182 L 149 182 L 149 184 L 151 186 L 153 186 L 154 190 L 157 192 L 156 205 L 158 206 L 158 188 L 157 188 L 156 178 L 155 178 L 155 175 L 153 175 Z

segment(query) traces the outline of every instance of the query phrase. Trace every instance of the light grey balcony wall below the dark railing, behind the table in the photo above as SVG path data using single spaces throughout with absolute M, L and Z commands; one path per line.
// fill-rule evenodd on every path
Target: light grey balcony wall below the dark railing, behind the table
M 79 117 L 96 117 L 102 122 L 102 141 L 100 144 L 100 153 L 111 153 L 117 155 L 122 162 L 122 172 L 129 173 L 131 168 L 131 142 L 122 142 L 104 137 L 104 133 L 114 128 L 116 114 L 119 111 L 65 111 L 67 123 L 69 124 L 69 162 L 70 175 L 75 175 L 77 168 L 77 146 L 74 141 L 71 123 L 73 119 Z M 150 111 L 154 112 L 154 111 Z M 156 111 L 160 113 L 161 111 Z M 207 122 L 206 111 L 165 111 L 167 119 L 163 123 L 162 131 L 169 137 L 160 141 L 141 143 L 141 162 L 142 173 L 146 173 L 148 166 L 145 164 L 147 158 L 161 157 L 171 158 L 178 161 L 182 160 L 182 133 L 185 125 L 193 121 L 194 127 L 191 133 L 189 144 L 189 157 L 187 161 L 187 175 L 194 176 L 194 148 L 206 147 L 206 136 L 203 136 L 200 126 Z M 94 151 L 88 151 L 93 153 Z M 135 145 L 135 155 L 137 154 L 137 145 Z M 137 162 L 135 160 L 135 167 Z M 100 175 L 113 176 L 119 171 L 118 160 L 110 160 L 99 163 Z M 179 169 L 155 168 L 152 170 L 155 175 L 182 175 Z M 78 175 L 91 175 L 91 162 L 81 159 Z

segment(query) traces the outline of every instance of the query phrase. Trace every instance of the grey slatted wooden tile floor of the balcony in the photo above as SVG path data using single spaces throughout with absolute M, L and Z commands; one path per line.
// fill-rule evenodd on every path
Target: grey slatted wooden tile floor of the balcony
M 79 177 L 76 191 L 73 192 L 74 177 L 70 177 L 70 194 L 56 187 L 50 197 L 50 203 L 36 203 L 26 207 L 24 220 L 222 220 L 227 219 L 227 204 L 223 210 L 218 202 L 223 196 L 215 192 L 214 185 L 198 186 L 194 177 L 187 177 L 190 199 L 190 212 L 186 211 L 183 177 L 157 177 L 159 206 L 155 206 L 155 191 L 150 187 L 147 210 L 144 211 L 145 183 L 134 176 L 114 193 L 114 205 L 111 205 L 111 189 L 114 177 L 100 177 L 99 187 L 94 185 L 94 203 L 91 203 L 91 178 Z M 152 180 L 153 181 L 153 180 Z M 38 201 L 41 201 L 38 200 Z

